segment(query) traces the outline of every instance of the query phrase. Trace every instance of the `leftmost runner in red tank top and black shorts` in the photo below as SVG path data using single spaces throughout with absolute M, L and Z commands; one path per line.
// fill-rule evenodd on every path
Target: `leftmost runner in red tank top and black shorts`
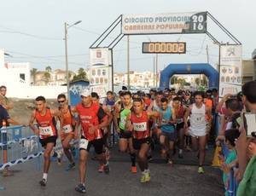
M 44 147 L 44 174 L 43 179 L 40 181 L 41 186 L 46 186 L 47 176 L 50 164 L 50 153 L 55 147 L 57 140 L 57 131 L 55 128 L 54 117 L 58 116 L 58 112 L 46 107 L 44 96 L 36 98 L 36 109 L 32 112 L 29 126 L 36 135 L 39 135 L 39 141 Z M 34 121 L 37 121 L 38 126 L 34 126 Z

